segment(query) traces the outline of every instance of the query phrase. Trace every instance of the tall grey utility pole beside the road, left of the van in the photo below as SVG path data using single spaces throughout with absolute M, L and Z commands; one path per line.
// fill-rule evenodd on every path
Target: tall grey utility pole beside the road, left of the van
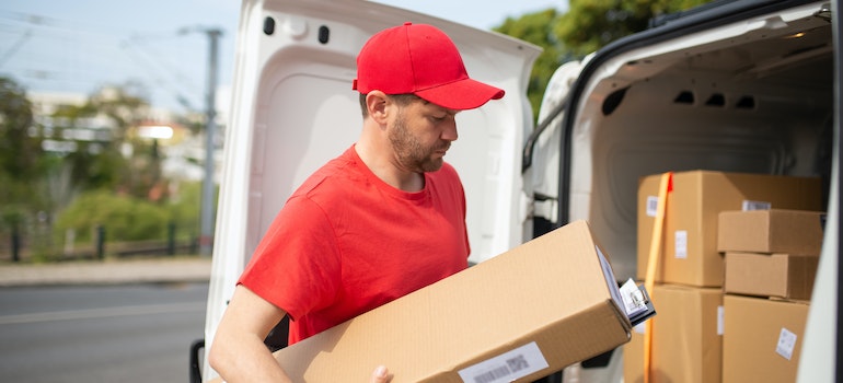
M 189 32 L 184 28 L 182 33 Z M 213 221 L 215 213 L 215 182 L 213 182 L 213 152 L 216 149 L 213 134 L 217 130 L 217 71 L 218 46 L 222 31 L 219 28 L 193 28 L 208 36 L 208 89 L 206 94 L 206 125 L 205 125 L 205 177 L 201 185 L 201 205 L 199 212 L 199 254 L 210 256 L 213 249 Z

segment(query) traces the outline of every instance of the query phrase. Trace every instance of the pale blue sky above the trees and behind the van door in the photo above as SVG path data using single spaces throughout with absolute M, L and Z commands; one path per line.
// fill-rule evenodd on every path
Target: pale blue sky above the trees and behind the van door
M 567 8 L 565 0 L 374 1 L 482 30 L 507 16 Z M 88 95 L 106 85 L 137 83 L 153 106 L 178 113 L 204 111 L 208 32 L 222 32 L 217 94 L 224 95 L 231 84 L 240 4 L 239 0 L 4 0 L 0 77 L 12 78 L 28 93 Z

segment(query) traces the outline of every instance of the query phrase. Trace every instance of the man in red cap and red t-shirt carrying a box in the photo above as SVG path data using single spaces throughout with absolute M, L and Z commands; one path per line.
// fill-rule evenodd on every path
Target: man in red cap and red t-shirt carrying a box
M 376 34 L 357 67 L 359 140 L 288 199 L 220 321 L 209 360 L 228 382 L 289 381 L 263 343 L 285 315 L 293 344 L 467 267 L 465 196 L 443 156 L 457 113 L 504 91 L 424 24 Z

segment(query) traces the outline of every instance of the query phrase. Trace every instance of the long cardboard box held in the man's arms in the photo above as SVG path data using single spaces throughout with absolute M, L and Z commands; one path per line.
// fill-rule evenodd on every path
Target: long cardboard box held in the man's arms
M 630 340 L 600 257 L 573 222 L 275 357 L 295 382 L 534 381 Z

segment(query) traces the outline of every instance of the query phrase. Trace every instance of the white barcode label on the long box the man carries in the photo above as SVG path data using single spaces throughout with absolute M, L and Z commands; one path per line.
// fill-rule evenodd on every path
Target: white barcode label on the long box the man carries
M 506 383 L 546 369 L 547 360 L 535 341 L 460 370 L 464 383 Z

